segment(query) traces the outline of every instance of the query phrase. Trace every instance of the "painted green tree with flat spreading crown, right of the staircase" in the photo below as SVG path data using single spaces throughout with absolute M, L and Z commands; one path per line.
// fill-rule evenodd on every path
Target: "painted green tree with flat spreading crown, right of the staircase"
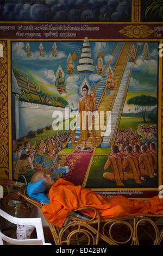
M 147 123 L 146 112 L 150 107 L 157 105 L 157 98 L 150 95 L 140 95 L 128 99 L 127 104 L 138 107 L 141 111 L 143 121 Z

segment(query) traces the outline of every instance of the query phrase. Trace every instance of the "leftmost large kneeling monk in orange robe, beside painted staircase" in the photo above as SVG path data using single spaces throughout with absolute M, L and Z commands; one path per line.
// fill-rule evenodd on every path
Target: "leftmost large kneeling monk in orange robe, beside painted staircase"
M 107 170 L 110 166 L 112 167 L 113 172 L 106 172 L 103 174 L 103 177 L 107 180 L 116 181 L 117 186 L 123 186 L 122 182 L 124 178 L 122 170 L 122 158 L 117 155 L 118 147 L 113 146 L 110 149 L 111 156 L 109 155 L 108 160 L 105 163 L 104 170 Z

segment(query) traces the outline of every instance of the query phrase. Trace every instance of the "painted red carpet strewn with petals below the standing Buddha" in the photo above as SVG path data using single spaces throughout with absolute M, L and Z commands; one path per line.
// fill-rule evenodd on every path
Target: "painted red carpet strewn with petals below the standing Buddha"
M 62 178 L 72 182 L 74 185 L 82 185 L 91 156 L 92 153 L 78 153 L 74 151 L 67 157 L 65 165 L 69 167 L 69 172 L 63 175 Z

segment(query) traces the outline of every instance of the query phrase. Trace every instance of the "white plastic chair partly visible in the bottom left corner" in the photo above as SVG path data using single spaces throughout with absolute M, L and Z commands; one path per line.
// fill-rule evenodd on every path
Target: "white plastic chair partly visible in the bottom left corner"
M 37 239 L 12 239 L 4 235 L 0 230 L 0 245 L 3 245 L 3 240 L 11 243 L 12 245 L 51 245 L 51 243 L 45 243 L 41 218 L 16 218 L 7 212 L 0 209 L 0 216 L 5 218 L 11 223 L 18 225 L 34 225 L 36 228 Z

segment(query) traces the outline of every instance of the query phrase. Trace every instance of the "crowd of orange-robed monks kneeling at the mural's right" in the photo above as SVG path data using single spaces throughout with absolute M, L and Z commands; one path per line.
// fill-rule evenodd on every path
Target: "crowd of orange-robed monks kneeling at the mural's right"
M 137 184 L 146 181 L 145 176 L 157 176 L 157 127 L 142 126 L 134 133 L 120 129 L 117 132 L 116 145 L 111 147 L 111 154 L 104 169 L 110 166 L 113 172 L 103 174 L 105 179 L 116 181 L 117 186 L 124 186 L 123 180 L 132 179 Z

